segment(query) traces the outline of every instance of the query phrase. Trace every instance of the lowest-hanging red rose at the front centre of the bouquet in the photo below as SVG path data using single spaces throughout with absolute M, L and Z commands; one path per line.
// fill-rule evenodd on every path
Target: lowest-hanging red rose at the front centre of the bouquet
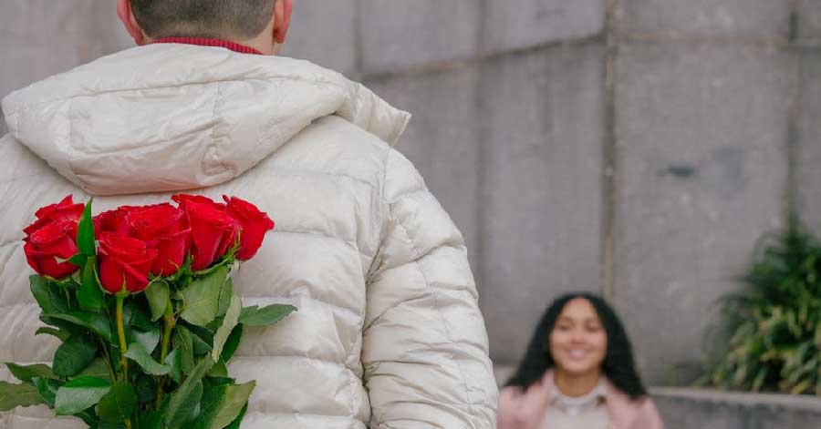
M 148 274 L 159 253 L 146 248 L 142 240 L 110 232 L 99 236 L 99 281 L 111 293 L 122 290 L 143 291 L 148 286 Z

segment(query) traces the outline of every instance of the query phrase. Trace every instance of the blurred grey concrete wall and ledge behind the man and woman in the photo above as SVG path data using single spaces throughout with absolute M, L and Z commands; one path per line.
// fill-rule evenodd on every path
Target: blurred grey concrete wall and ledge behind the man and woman
M 0 97 L 132 46 L 114 6 L 0 0 Z M 502 382 L 586 290 L 647 383 L 690 385 L 756 242 L 791 211 L 821 230 L 821 0 L 296 0 L 284 54 L 414 115 L 398 148 L 465 235 Z M 654 392 L 673 429 L 821 418 L 812 395 Z

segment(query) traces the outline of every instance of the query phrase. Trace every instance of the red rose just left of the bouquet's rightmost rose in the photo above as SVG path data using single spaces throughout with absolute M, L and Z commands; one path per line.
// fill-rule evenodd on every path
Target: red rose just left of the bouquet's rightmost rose
M 192 270 L 208 268 L 223 257 L 237 239 L 239 225 L 225 214 L 224 205 L 200 196 L 175 195 L 191 227 Z

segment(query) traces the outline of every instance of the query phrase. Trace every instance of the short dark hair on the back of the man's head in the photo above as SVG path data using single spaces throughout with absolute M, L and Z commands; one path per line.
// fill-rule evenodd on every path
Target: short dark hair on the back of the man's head
M 130 0 L 148 36 L 258 36 L 274 15 L 276 0 Z

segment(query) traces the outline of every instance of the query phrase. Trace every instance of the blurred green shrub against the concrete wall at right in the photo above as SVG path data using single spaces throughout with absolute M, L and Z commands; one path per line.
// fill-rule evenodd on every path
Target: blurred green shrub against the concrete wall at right
M 821 395 L 821 245 L 795 217 L 759 242 L 742 291 L 718 302 L 716 387 Z

